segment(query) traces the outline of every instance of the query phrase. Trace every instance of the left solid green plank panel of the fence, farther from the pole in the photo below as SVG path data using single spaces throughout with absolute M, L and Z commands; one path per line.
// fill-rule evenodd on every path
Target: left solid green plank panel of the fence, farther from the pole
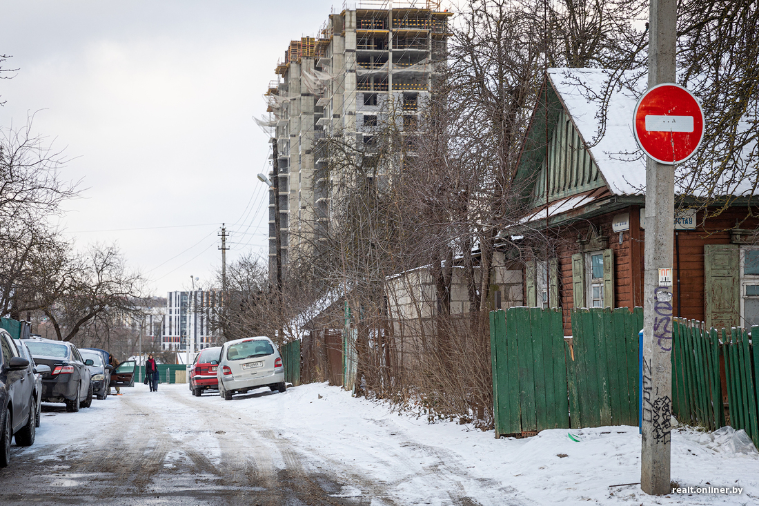
M 490 349 L 496 437 L 569 426 L 560 310 L 491 312 Z

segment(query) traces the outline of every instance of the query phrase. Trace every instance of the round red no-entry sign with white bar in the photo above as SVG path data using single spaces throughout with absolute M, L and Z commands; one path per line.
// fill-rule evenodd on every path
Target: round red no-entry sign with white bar
M 653 160 L 674 165 L 695 153 L 704 138 L 704 112 L 679 84 L 657 84 L 635 106 L 633 130 L 638 146 Z

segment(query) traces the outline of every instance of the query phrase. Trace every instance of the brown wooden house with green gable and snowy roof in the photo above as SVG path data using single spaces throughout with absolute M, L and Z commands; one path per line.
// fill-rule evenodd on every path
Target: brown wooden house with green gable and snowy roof
M 646 166 L 631 125 L 645 83 L 629 90 L 607 80 L 599 69 L 546 73 L 514 176 L 531 209 L 524 227 L 547 238 L 524 263 L 525 303 L 563 308 L 566 334 L 570 308 L 643 305 Z M 738 191 L 742 198 L 716 202 L 724 209 L 706 219 L 685 196 L 674 315 L 715 327 L 759 324 L 757 207 Z

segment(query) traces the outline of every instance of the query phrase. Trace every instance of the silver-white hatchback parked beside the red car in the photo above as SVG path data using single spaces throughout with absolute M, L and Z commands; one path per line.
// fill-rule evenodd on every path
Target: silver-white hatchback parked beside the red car
M 225 400 L 231 400 L 232 394 L 245 394 L 259 387 L 285 391 L 282 357 L 272 340 L 265 336 L 224 343 L 216 378 L 219 381 L 219 395 Z

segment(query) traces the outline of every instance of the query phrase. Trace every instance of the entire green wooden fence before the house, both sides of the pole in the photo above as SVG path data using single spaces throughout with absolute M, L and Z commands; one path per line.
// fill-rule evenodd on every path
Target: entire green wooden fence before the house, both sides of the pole
M 638 424 L 642 308 L 575 309 L 571 318 L 572 339 L 562 348 L 558 309 L 490 313 L 496 437 Z M 709 430 L 726 424 L 745 429 L 759 446 L 759 346 L 751 336 L 759 336 L 759 327 L 751 333 L 707 330 L 701 322 L 675 320 L 672 413 L 677 419 Z

